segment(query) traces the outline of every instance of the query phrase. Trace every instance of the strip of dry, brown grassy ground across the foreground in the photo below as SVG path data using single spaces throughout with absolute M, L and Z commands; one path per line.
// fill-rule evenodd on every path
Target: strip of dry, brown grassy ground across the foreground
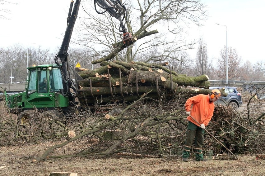
M 57 141 L 58 143 L 62 141 Z M 74 172 L 78 176 L 101 175 L 265 175 L 265 160 L 256 160 L 254 155 L 240 155 L 239 160 L 217 160 L 184 162 L 180 157 L 130 158 L 112 156 L 105 159 L 67 158 L 57 161 L 32 162 L 36 157 L 55 143 L 45 142 L 36 145 L 8 146 L 0 150 L 0 175 L 44 176 L 51 172 Z M 84 142 L 72 142 L 54 152 L 71 153 L 78 151 Z M 218 157 L 217 157 L 218 158 Z

